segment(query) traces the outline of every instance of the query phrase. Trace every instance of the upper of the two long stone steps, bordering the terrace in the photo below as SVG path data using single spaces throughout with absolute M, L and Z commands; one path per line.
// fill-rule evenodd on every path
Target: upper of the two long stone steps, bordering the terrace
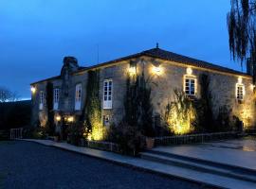
M 210 166 L 215 166 L 219 168 L 224 168 L 224 169 L 229 169 L 234 172 L 239 172 L 243 173 L 246 175 L 256 175 L 256 170 L 255 169 L 250 169 L 244 166 L 240 166 L 239 164 L 228 164 L 228 163 L 218 163 L 218 162 L 213 162 L 210 160 L 204 160 L 204 159 L 199 159 L 199 158 L 193 158 L 190 156 L 184 156 L 184 155 L 179 155 L 179 154 L 174 154 L 170 152 L 164 152 L 164 151 L 157 151 L 155 149 L 148 151 L 148 153 L 156 154 L 156 155 L 161 155 L 161 156 L 166 156 L 170 158 L 175 158 L 178 160 L 184 160 L 184 161 L 189 161 L 192 163 L 200 163 L 200 164 L 205 164 L 205 165 L 210 165 Z

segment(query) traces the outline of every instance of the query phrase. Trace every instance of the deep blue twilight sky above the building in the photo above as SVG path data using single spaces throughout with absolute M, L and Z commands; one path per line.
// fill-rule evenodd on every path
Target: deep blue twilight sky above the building
M 29 83 L 155 47 L 241 70 L 230 60 L 229 0 L 0 0 L 0 86 Z

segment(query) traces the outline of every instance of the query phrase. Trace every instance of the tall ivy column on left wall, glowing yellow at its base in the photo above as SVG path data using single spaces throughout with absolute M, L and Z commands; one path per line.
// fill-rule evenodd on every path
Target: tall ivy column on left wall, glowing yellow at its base
M 87 139 L 103 140 L 105 128 L 101 120 L 100 73 L 88 71 L 84 107 L 84 129 Z

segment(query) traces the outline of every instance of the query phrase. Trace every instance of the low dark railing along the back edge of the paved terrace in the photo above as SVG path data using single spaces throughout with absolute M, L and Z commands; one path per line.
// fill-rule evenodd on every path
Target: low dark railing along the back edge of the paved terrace
M 185 145 L 192 143 L 204 143 L 237 137 L 239 132 L 215 132 L 204 134 L 188 134 L 178 136 L 155 137 L 155 146 Z

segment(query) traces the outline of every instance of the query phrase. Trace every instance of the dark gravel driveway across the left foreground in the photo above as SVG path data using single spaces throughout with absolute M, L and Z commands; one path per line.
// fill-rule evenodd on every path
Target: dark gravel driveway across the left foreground
M 31 142 L 0 141 L 0 188 L 203 188 Z

